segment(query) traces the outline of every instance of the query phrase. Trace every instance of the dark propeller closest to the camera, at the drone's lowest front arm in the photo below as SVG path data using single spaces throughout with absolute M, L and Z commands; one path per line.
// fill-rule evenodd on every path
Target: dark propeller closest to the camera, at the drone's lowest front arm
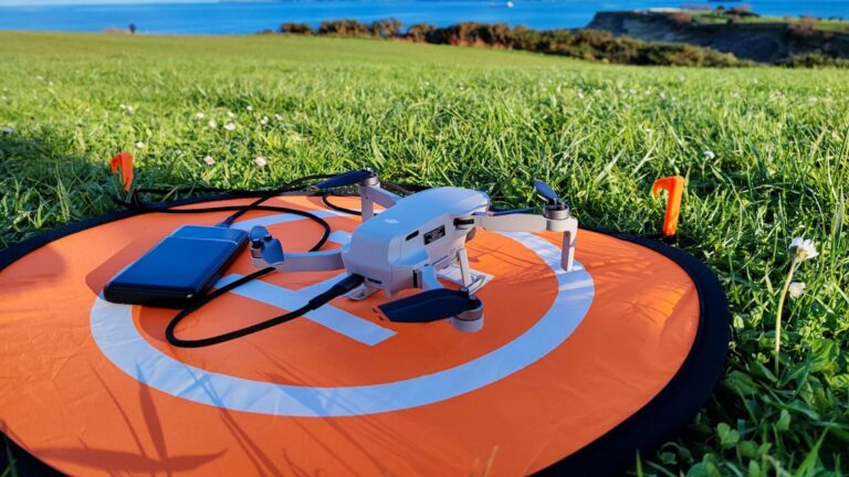
M 460 315 L 481 306 L 469 290 L 437 288 L 378 306 L 395 322 L 429 322 Z

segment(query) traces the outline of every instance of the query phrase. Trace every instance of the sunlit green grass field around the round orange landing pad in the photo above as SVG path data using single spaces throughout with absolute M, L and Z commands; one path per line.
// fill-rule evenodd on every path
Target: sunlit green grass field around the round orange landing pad
M 2 246 L 113 210 L 107 160 L 137 141 L 146 186 L 253 188 L 371 166 L 522 205 L 541 177 L 583 224 L 632 233 L 662 220 L 652 181 L 682 174 L 678 245 L 727 292 L 731 358 L 706 407 L 635 473 L 849 473 L 849 72 L 332 38 L 0 33 L 0 127 L 13 128 L 0 136 Z M 229 120 L 235 130 L 221 128 Z M 821 255 L 797 273 L 808 289 L 787 304 L 775 374 L 775 307 L 797 235 Z

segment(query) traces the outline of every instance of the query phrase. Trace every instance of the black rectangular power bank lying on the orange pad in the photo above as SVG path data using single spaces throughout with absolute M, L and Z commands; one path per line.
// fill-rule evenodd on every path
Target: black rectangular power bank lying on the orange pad
M 248 242 L 239 229 L 184 225 L 126 268 L 103 289 L 107 301 L 185 308 L 212 286 Z

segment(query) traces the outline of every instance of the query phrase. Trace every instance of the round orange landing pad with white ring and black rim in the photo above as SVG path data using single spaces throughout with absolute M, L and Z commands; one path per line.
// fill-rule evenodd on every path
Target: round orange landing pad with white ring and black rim
M 322 214 L 334 231 L 324 250 L 344 246 L 359 223 L 315 197 L 269 204 Z M 124 212 L 0 252 L 0 423 L 22 465 L 70 475 L 599 475 L 671 438 L 722 371 L 729 315 L 710 271 L 677 248 L 588 230 L 568 274 L 555 266 L 556 234 L 479 231 L 471 266 L 492 279 L 478 293 L 476 333 L 381 320 L 378 293 L 177 349 L 165 340 L 175 310 L 98 297 L 176 227 L 227 215 Z M 262 211 L 237 225 L 252 224 L 291 252 L 322 234 Z M 221 283 L 253 271 L 244 251 Z M 189 316 L 178 335 L 280 315 L 338 275 L 263 276 Z

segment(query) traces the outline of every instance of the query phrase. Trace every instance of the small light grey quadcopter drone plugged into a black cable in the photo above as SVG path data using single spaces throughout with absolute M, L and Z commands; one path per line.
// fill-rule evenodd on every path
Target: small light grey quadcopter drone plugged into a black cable
M 449 319 L 461 331 L 483 327 L 483 304 L 472 293 L 483 276 L 473 276 L 465 243 L 478 227 L 497 232 L 563 232 L 560 266 L 572 271 L 578 221 L 545 182 L 534 180 L 547 199 L 542 214 L 532 209 L 491 211 L 490 197 L 480 191 L 443 187 L 408 197 L 380 187 L 370 169 L 345 172 L 316 187 L 333 189 L 357 184 L 363 223 L 342 248 L 326 252 L 283 253 L 283 246 L 263 226 L 251 230 L 251 262 L 277 272 L 345 269 L 361 276 L 363 284 L 347 294 L 363 299 L 382 289 L 391 298 L 407 288 L 421 293 L 378 306 L 390 321 L 426 322 Z M 375 203 L 386 208 L 375 214 Z M 438 273 L 459 264 L 462 288 L 443 288 Z

